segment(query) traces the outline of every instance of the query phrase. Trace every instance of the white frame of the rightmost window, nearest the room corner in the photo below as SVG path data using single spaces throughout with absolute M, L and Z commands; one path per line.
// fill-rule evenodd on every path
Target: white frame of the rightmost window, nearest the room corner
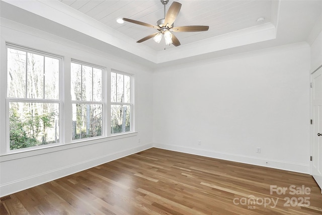
M 130 103 L 125 103 L 125 102 L 112 102 L 112 95 L 111 95 L 111 83 L 112 83 L 112 79 L 111 79 L 111 75 L 112 73 L 115 73 L 115 74 L 121 74 L 123 76 L 128 76 L 130 77 Z M 117 89 L 117 87 L 116 87 Z M 124 83 L 123 83 L 123 90 L 124 90 Z M 115 93 L 117 94 L 117 91 L 115 91 Z M 122 134 L 126 134 L 126 133 L 131 133 L 131 132 L 135 132 L 135 127 L 134 127 L 134 113 L 135 113 L 135 107 L 134 107 L 134 75 L 132 74 L 129 74 L 129 73 L 125 73 L 123 71 L 120 71 L 120 70 L 117 70 L 117 69 L 111 69 L 111 72 L 110 72 L 110 118 L 112 116 L 112 108 L 111 106 L 112 105 L 129 105 L 131 107 L 131 115 L 130 115 L 130 130 L 129 131 L 125 131 L 125 132 L 118 132 L 118 133 L 112 133 L 111 132 L 111 127 L 112 127 L 112 121 L 110 121 L 110 127 L 109 127 L 109 132 L 110 132 L 110 135 L 111 136 L 116 136 L 116 135 L 122 135 Z

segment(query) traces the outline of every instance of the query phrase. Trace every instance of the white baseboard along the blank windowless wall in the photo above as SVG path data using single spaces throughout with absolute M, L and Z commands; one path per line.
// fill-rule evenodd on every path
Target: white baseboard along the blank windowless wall
M 274 169 L 287 170 L 287 171 L 305 173 L 305 174 L 309 174 L 309 169 L 310 169 L 309 165 L 305 165 L 305 164 L 262 159 L 257 157 L 235 155 L 235 154 L 215 152 L 210 150 L 200 150 L 200 149 L 189 148 L 189 147 L 181 147 L 181 146 L 165 145 L 165 144 L 153 144 L 153 147 L 187 153 L 187 154 L 200 155 L 200 156 L 205 156 L 209 158 L 216 158 L 221 160 L 234 161 L 239 163 L 252 164 L 257 166 L 263 166 L 263 167 L 269 167 Z

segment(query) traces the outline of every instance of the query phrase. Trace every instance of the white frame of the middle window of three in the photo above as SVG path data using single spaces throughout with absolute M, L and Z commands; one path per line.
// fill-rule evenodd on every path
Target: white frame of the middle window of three
M 106 99 L 106 89 L 107 89 L 107 80 L 106 80 L 106 68 L 104 66 L 100 66 L 94 63 L 89 63 L 89 62 L 85 62 L 82 60 L 77 60 L 74 58 L 70 59 L 70 77 L 72 74 L 71 71 L 71 63 L 76 63 L 76 64 L 80 64 L 81 66 L 85 65 L 85 66 L 90 66 L 92 68 L 97 68 L 97 69 L 101 69 L 102 70 L 102 100 L 99 101 L 83 101 L 83 100 L 72 100 L 71 98 L 71 91 L 70 91 L 70 103 L 71 103 L 71 111 L 72 111 L 72 105 L 73 104 L 101 104 L 102 105 L 102 135 L 101 136 L 93 136 L 93 137 L 87 137 L 87 138 L 79 138 L 79 139 L 72 139 L 72 135 L 71 135 L 71 143 L 74 142 L 82 142 L 82 141 L 86 141 L 86 140 L 93 140 L 93 139 L 100 139 L 100 138 L 104 138 L 108 136 L 108 132 L 107 132 L 107 127 L 108 127 L 108 120 L 106 119 L 108 116 L 108 111 L 107 109 L 107 99 Z M 69 88 L 71 88 L 71 79 L 69 82 Z M 93 82 L 92 82 L 92 88 L 93 88 Z M 92 92 L 93 93 L 93 92 Z

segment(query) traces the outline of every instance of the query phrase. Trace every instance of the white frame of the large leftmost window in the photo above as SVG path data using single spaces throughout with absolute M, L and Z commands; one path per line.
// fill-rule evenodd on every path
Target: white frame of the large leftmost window
M 39 49 L 35 49 L 35 48 L 30 48 L 27 46 L 23 46 L 23 45 L 18 45 L 18 44 L 14 44 L 14 43 L 10 43 L 10 42 L 6 42 L 6 153 L 17 153 L 17 152 L 26 152 L 26 151 L 33 151 L 36 149 L 44 149 L 44 148 L 49 148 L 49 147 L 53 147 L 53 146 L 59 146 L 63 144 L 63 140 L 64 140 L 64 130 L 63 130 L 63 78 L 62 78 L 62 74 L 63 74 L 63 56 L 60 56 L 58 54 L 53 54 L 51 52 L 48 51 L 43 51 L 43 50 L 39 50 Z M 28 55 L 27 53 L 32 53 L 32 54 L 37 54 L 37 55 L 41 55 L 44 57 L 50 57 L 50 58 L 54 58 L 57 59 L 59 61 L 59 66 L 58 66 L 58 99 L 32 99 L 32 98 L 12 98 L 9 97 L 9 86 L 8 86 L 8 49 L 16 49 L 19 51 L 24 51 L 26 52 L 26 56 Z M 27 59 L 27 57 L 26 57 Z M 28 64 L 27 60 L 26 60 L 26 65 Z M 44 65 L 45 67 L 45 65 Z M 28 66 L 26 66 L 26 74 L 28 71 Z M 27 83 L 27 80 L 26 80 Z M 45 80 L 44 80 L 45 83 Z M 27 85 L 26 85 L 26 89 L 27 89 Z M 26 92 L 27 94 L 27 92 Z M 23 148 L 23 149 L 14 149 L 11 150 L 10 149 L 10 103 L 11 102 L 25 102 L 25 103 L 53 103 L 53 104 L 58 104 L 59 108 L 58 108 L 58 114 L 59 114 L 59 122 L 58 122 L 58 132 L 59 132 L 59 142 L 53 143 L 53 144 L 48 144 L 48 145 L 40 145 L 40 146 L 35 146 L 35 147 L 28 147 L 28 148 Z

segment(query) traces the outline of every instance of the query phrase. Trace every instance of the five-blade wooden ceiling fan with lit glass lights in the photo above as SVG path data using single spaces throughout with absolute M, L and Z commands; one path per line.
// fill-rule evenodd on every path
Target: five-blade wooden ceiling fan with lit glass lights
M 150 25 L 144 22 L 140 22 L 137 20 L 131 20 L 127 18 L 123 18 L 126 22 L 131 22 L 138 25 L 143 25 L 146 27 L 154 28 L 158 30 L 158 32 L 155 32 L 154 34 L 148 35 L 140 40 L 137 41 L 137 43 L 141 43 L 145 40 L 148 40 L 153 37 L 153 40 L 157 43 L 159 43 L 162 39 L 162 35 L 165 37 L 166 45 L 174 44 L 175 46 L 179 46 L 180 42 L 178 38 L 171 33 L 171 31 L 174 32 L 197 32 L 197 31 L 207 31 L 209 29 L 209 26 L 180 26 L 180 27 L 174 27 L 174 22 L 180 12 L 181 4 L 178 2 L 173 2 L 170 6 L 168 13 L 166 13 L 166 5 L 168 4 L 169 0 L 160 0 L 160 2 L 164 5 L 164 19 L 160 19 L 156 22 L 156 25 Z

